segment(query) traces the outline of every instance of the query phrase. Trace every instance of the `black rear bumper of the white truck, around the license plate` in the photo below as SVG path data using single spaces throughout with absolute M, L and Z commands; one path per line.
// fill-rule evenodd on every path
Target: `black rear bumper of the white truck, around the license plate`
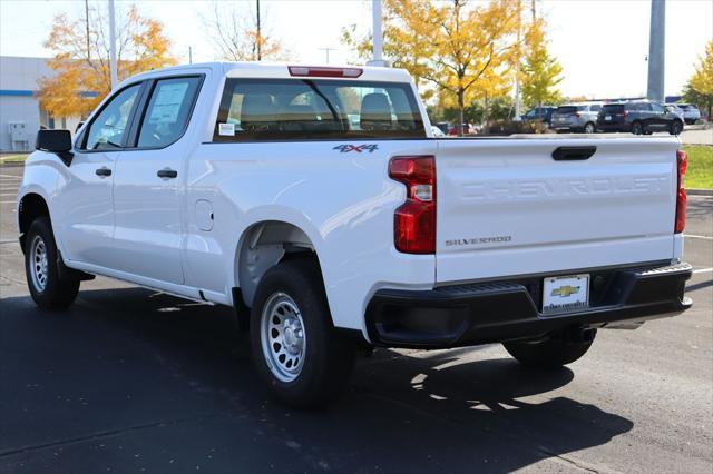
M 584 273 L 573 270 L 572 274 Z M 379 346 L 446 348 L 535 338 L 572 326 L 606 327 L 675 316 L 692 305 L 684 296 L 688 264 L 602 271 L 592 306 L 544 316 L 528 282 L 479 283 L 431 290 L 383 289 L 367 308 L 367 328 Z M 544 277 L 544 276 L 543 276 Z M 596 292 L 595 292 L 596 293 Z

